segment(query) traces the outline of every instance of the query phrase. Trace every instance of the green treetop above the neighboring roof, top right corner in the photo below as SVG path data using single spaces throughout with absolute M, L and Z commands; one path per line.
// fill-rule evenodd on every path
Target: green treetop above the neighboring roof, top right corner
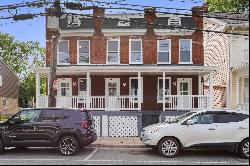
M 213 12 L 249 12 L 249 0 L 206 0 Z

